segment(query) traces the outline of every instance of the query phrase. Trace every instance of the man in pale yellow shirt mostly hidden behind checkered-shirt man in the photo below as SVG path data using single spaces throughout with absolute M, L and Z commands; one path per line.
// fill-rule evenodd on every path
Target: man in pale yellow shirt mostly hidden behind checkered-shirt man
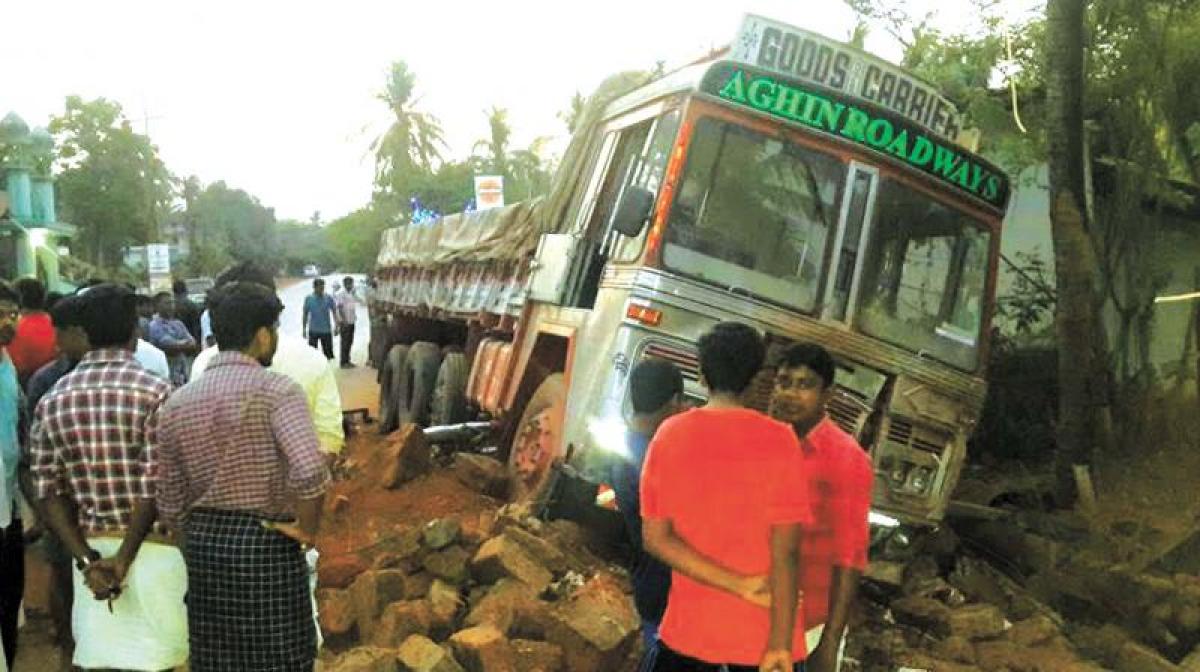
M 216 278 L 216 289 L 230 282 L 256 282 L 275 289 L 271 274 L 252 262 L 242 262 L 229 266 Z M 192 362 L 192 380 L 200 377 L 209 361 L 216 356 L 217 349 L 205 348 L 196 355 Z M 320 451 L 332 457 L 342 451 L 346 434 L 342 431 L 342 395 L 337 390 L 337 379 L 320 352 L 310 348 L 302 338 L 280 332 L 280 344 L 268 371 L 281 373 L 295 380 L 304 388 L 308 410 L 317 425 L 317 439 Z

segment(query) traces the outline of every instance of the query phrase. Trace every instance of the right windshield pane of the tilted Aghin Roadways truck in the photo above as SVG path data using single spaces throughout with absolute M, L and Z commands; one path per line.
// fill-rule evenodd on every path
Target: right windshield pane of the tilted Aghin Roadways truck
M 856 326 L 973 371 L 991 234 L 982 222 L 888 179 L 875 212 Z

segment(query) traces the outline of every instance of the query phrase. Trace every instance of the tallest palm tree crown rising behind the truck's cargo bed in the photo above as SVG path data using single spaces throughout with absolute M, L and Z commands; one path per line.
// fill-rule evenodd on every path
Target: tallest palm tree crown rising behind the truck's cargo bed
M 376 152 L 376 185 L 385 191 L 396 192 L 415 169 L 432 169 L 445 146 L 438 120 L 415 109 L 415 84 L 416 76 L 408 64 L 396 61 L 391 64 L 388 85 L 376 96 L 395 116 L 391 126 L 371 144 Z

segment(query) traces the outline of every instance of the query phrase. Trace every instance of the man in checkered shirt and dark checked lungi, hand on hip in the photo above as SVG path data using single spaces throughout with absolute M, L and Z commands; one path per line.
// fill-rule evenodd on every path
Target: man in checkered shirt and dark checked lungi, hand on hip
M 300 385 L 266 370 L 283 311 L 262 284 L 210 301 L 218 354 L 163 404 L 158 510 L 185 540 L 192 672 L 311 671 L 305 552 L 329 469 Z

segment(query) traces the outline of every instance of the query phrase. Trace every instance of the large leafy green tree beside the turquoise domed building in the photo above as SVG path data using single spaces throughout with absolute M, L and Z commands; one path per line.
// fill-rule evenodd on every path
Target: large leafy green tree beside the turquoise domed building
M 157 148 L 134 133 L 121 106 L 70 96 L 50 120 L 62 218 L 79 227 L 84 257 L 118 265 L 122 247 L 157 239 L 174 182 Z

